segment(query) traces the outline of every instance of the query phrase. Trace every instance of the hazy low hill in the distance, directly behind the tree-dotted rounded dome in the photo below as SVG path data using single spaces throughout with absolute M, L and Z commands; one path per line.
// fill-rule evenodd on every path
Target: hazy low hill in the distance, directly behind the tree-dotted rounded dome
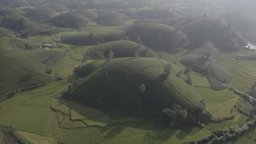
M 137 11 L 137 19 L 167 19 L 168 17 L 180 17 L 175 11 L 167 9 L 141 9 Z

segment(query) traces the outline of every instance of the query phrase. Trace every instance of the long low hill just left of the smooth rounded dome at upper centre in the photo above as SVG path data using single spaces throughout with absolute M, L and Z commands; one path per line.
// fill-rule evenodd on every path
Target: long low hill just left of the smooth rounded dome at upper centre
M 100 43 L 107 43 L 109 41 L 121 40 L 124 36 L 124 31 L 112 29 L 98 31 L 95 33 L 62 35 L 61 42 L 73 45 L 96 45 Z

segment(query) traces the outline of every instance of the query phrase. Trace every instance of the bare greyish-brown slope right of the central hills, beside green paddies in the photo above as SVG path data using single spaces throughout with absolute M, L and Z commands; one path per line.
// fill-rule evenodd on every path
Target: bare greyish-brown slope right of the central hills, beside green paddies
M 211 42 L 199 47 L 182 58 L 182 62 L 202 72 L 208 78 L 213 89 L 223 89 L 223 83 L 231 78 L 231 74 L 221 68 L 219 63 L 222 57 Z

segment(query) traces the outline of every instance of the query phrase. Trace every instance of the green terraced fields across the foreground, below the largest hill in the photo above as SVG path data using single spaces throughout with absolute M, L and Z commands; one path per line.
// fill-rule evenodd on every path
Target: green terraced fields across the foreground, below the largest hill
M 36 143 L 178 144 L 210 134 L 196 127 L 166 129 L 161 123 L 136 117 L 112 119 L 94 107 L 59 98 L 68 86 L 67 81 L 59 81 L 18 93 L 0 104 L 0 122 L 15 125 L 21 136 Z M 191 133 L 192 129 L 196 130 Z

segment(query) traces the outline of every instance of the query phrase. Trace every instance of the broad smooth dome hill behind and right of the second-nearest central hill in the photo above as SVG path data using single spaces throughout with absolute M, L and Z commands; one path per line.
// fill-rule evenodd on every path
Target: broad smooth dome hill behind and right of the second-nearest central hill
M 177 49 L 188 43 L 187 36 L 171 26 L 159 23 L 141 23 L 127 29 L 130 40 L 141 40 L 143 45 L 158 50 Z

